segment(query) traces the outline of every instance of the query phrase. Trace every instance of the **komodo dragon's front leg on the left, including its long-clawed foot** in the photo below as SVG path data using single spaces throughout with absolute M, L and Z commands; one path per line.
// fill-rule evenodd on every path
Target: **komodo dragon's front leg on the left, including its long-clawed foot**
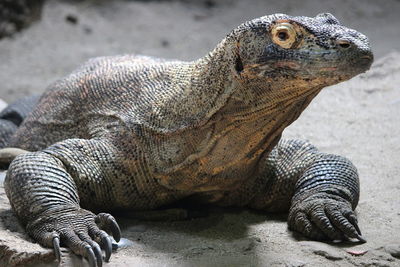
M 66 140 L 19 155 L 9 167 L 5 190 L 28 234 L 41 245 L 54 247 L 58 260 L 61 243 L 88 258 L 90 266 L 101 266 L 100 246 L 106 261 L 112 249 L 106 232 L 119 241 L 120 229 L 110 214 L 95 215 L 80 202 L 103 208 L 112 203 L 110 177 L 121 158 L 105 140 Z

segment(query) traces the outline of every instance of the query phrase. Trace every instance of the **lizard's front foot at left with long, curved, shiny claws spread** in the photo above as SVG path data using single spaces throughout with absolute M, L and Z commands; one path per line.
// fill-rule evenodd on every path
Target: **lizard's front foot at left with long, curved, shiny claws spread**
M 91 267 L 102 266 L 101 248 L 105 251 L 106 262 L 111 256 L 111 239 L 101 229 L 111 233 L 117 242 L 120 240 L 121 231 L 113 216 L 107 213 L 96 216 L 80 208 L 48 211 L 26 227 L 28 234 L 39 244 L 54 248 L 58 261 L 61 258 L 61 243 L 75 254 L 87 258 Z

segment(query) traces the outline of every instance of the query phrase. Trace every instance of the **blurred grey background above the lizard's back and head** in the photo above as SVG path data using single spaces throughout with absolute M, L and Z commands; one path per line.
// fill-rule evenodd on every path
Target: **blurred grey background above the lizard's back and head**
M 321 12 L 369 36 L 377 57 L 400 44 L 398 0 L 0 0 L 0 98 L 42 92 L 91 57 L 192 60 L 246 20 Z

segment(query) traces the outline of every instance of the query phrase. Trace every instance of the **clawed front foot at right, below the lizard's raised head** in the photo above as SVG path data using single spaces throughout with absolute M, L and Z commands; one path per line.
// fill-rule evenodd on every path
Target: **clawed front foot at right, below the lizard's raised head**
M 314 240 L 347 240 L 361 236 L 357 217 L 348 201 L 317 195 L 297 201 L 289 212 L 289 228 Z

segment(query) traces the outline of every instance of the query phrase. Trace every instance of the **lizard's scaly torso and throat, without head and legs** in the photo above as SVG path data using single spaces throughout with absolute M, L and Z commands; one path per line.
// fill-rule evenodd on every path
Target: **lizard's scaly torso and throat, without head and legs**
M 189 85 L 189 77 L 173 81 L 175 73 L 182 68 L 187 73 L 193 73 L 187 69 L 200 68 L 198 65 L 202 64 L 203 61 L 163 62 L 142 56 L 91 60 L 56 83 L 42 97 L 32 115 L 18 129 L 11 146 L 36 151 L 70 138 L 112 136 L 114 144 L 122 145 L 121 150 L 129 147 L 125 155 L 129 167 L 125 167 L 123 172 L 132 173 L 131 166 L 134 165 L 136 175 L 123 179 L 117 175 L 110 177 L 110 182 L 127 179 L 150 184 L 145 189 L 136 186 L 139 190 L 136 194 L 132 193 L 132 187 L 126 187 L 126 194 L 130 197 L 124 198 L 123 203 L 112 196 L 111 199 L 91 197 L 86 202 L 85 196 L 88 195 L 80 194 L 84 207 L 151 209 L 201 192 L 207 195 L 207 199 L 201 198 L 202 201 L 220 200 L 224 192 L 237 190 L 243 183 L 254 182 L 260 158 L 276 145 L 282 130 L 297 118 L 299 105 L 307 105 L 319 88 L 307 87 L 311 92 L 304 94 L 304 100 L 296 99 L 295 103 L 283 98 L 282 102 L 286 102 L 280 109 L 257 104 L 264 100 L 259 98 L 260 95 L 254 96 L 254 99 L 247 98 L 255 108 L 249 105 L 243 107 L 246 103 L 243 105 L 233 92 L 228 92 L 227 99 L 218 99 L 219 103 L 205 109 L 213 112 L 203 114 L 204 106 L 195 107 L 195 104 L 202 104 L 199 99 L 202 95 L 195 94 L 201 88 Z M 152 76 L 141 79 L 143 69 L 151 70 Z M 215 72 L 207 76 L 203 74 L 193 75 L 193 79 L 200 80 L 198 84 L 201 86 L 207 80 L 212 85 L 217 83 L 219 76 Z M 94 78 L 96 83 L 91 83 Z M 166 84 L 166 81 L 175 83 L 175 86 Z M 102 105 L 98 105 L 101 96 L 96 94 L 98 83 L 104 83 L 108 88 Z M 235 86 L 235 81 L 226 83 L 232 84 L 228 88 Z M 75 84 L 81 86 L 74 87 Z M 187 94 L 176 90 L 179 87 L 187 87 Z M 270 85 L 268 87 L 273 89 Z M 217 89 L 218 85 L 210 88 Z M 164 89 L 165 93 L 161 99 L 147 98 L 148 94 L 160 89 Z M 215 98 L 219 94 L 215 90 Z M 180 107 L 179 114 L 168 106 L 185 102 L 188 106 Z M 85 105 L 82 106 L 82 103 Z M 279 106 L 278 101 L 276 106 Z M 252 112 L 252 109 L 257 111 Z M 282 118 L 286 119 L 284 123 Z M 49 131 L 52 134 L 48 134 Z M 132 155 L 128 154 L 131 151 L 143 157 L 132 159 Z M 240 198 L 238 203 L 231 200 L 229 204 L 245 205 L 248 201 L 243 202 Z

